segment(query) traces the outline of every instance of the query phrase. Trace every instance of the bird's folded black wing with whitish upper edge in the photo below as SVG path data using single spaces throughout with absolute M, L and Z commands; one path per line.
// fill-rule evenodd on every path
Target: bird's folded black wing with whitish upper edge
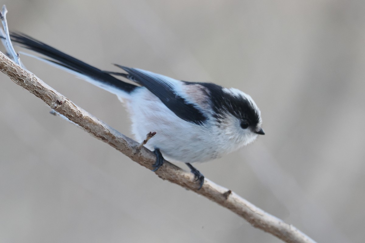
M 128 74 L 113 73 L 114 75 L 123 76 L 146 87 L 181 119 L 193 122 L 197 125 L 202 125 L 207 121 L 208 118 L 197 109 L 196 105 L 187 102 L 183 97 L 175 93 L 173 86 L 167 80 L 167 77 L 141 69 L 120 66 L 118 64 L 115 64 L 115 66 L 122 68 Z

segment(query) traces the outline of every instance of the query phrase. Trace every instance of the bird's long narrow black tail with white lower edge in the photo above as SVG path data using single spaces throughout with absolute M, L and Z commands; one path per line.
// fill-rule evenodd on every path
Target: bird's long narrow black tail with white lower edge
M 86 81 L 101 87 L 116 95 L 132 92 L 137 86 L 131 83 L 123 82 L 108 72 L 104 72 L 99 68 L 93 67 L 81 60 L 78 60 L 64 52 L 61 52 L 39 40 L 36 40 L 28 35 L 22 33 L 11 33 L 10 38 L 12 42 L 20 44 L 20 46 L 30 49 L 47 56 L 47 58 L 41 58 L 45 61 L 55 64 L 55 66 L 65 68 L 66 70 L 80 76 Z

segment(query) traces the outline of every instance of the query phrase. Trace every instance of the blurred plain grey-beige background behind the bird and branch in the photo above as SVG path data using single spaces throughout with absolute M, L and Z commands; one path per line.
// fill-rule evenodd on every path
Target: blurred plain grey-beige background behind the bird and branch
M 101 69 L 119 71 L 111 65 L 119 63 L 250 94 L 266 135 L 196 167 L 318 242 L 364 242 L 365 1 L 2 4 L 11 30 Z M 114 95 L 22 60 L 131 135 Z M 162 181 L 0 79 L 0 242 L 281 242 Z

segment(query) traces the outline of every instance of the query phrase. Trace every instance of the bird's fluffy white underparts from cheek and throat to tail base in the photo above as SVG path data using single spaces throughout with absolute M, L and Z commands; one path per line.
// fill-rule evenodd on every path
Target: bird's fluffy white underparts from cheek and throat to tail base
M 160 149 L 170 161 L 209 161 L 249 142 L 245 134 L 241 133 L 239 124 L 234 125 L 238 122 L 236 118 L 227 119 L 227 124 L 221 124 L 220 128 L 213 125 L 214 119 L 211 117 L 204 125 L 184 121 L 144 87 L 135 90 L 129 99 L 119 99 L 130 113 L 135 140 L 141 142 L 147 133 L 156 132 L 145 146 L 150 150 Z

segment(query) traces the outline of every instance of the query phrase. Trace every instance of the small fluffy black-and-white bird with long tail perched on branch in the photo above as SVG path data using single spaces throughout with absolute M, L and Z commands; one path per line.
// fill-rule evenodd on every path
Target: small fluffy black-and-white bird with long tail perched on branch
M 253 142 L 261 128 L 261 113 L 250 95 L 214 83 L 187 82 L 139 68 L 115 64 L 124 72 L 103 71 L 21 33 L 11 40 L 46 58 L 40 58 L 118 96 L 132 121 L 137 141 L 156 136 L 145 146 L 156 155 L 154 170 L 170 161 L 184 162 L 199 189 L 204 176 L 193 162 L 222 157 Z M 128 79 L 124 82 L 115 76 Z

